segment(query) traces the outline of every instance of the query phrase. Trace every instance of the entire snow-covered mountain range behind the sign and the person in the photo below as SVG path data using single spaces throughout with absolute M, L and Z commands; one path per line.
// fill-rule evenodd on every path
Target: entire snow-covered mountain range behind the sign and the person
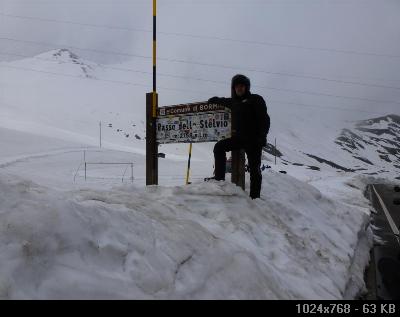
M 69 49 L 0 63 L 0 124 L 97 145 L 102 122 L 106 146 L 143 153 L 147 90 L 145 83 L 138 83 L 137 73 L 126 71 L 135 66 L 140 63 L 99 65 L 81 59 Z M 160 94 L 163 100 L 163 92 Z M 180 100 L 204 100 L 213 91 L 202 97 L 198 93 L 188 95 L 190 92 L 182 92 Z M 165 100 L 169 99 L 166 95 Z M 315 171 L 328 168 L 379 173 L 399 166 L 397 116 L 363 120 L 353 126 L 354 120 L 344 122 L 343 114 L 334 109 L 321 113 L 312 108 L 289 110 L 268 104 L 272 128 L 265 152 L 267 163 L 273 161 L 276 153 L 283 165 Z M 352 118 L 356 115 L 352 114 Z M 275 137 L 277 151 L 273 145 Z M 195 148 L 195 160 L 212 160 L 212 145 L 198 144 Z M 172 156 L 186 155 L 186 147 L 181 145 L 164 146 L 162 151 Z

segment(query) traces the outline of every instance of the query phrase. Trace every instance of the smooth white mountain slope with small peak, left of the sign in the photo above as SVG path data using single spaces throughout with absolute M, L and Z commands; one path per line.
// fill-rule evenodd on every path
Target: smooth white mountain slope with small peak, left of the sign
M 144 95 L 100 65 L 62 49 L 0 66 L 0 126 L 98 145 L 102 122 L 105 145 L 144 148 Z

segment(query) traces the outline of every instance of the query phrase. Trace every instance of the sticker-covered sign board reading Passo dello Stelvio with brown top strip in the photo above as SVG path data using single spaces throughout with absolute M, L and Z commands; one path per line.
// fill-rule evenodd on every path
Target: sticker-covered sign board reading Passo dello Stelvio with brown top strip
M 207 102 L 159 108 L 157 143 L 216 142 L 231 136 L 231 111 Z

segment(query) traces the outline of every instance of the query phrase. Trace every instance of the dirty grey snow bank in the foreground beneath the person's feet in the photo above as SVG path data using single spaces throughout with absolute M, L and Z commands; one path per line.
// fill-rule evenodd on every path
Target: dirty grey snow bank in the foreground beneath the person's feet
M 368 209 L 267 173 L 58 192 L 0 174 L 2 299 L 341 299 L 362 290 Z M 360 243 L 362 246 L 360 246 Z M 365 261 L 365 259 L 364 259 Z

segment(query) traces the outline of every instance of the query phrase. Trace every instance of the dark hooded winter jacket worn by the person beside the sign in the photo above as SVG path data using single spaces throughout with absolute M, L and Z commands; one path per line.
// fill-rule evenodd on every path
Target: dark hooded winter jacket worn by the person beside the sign
M 238 97 L 235 93 L 235 85 L 246 85 L 245 96 Z M 267 134 L 270 128 L 270 117 L 267 113 L 267 105 L 263 97 L 250 92 L 250 80 L 237 75 L 232 79 L 232 98 L 214 97 L 209 103 L 221 104 L 232 111 L 232 136 L 247 145 L 265 146 Z

